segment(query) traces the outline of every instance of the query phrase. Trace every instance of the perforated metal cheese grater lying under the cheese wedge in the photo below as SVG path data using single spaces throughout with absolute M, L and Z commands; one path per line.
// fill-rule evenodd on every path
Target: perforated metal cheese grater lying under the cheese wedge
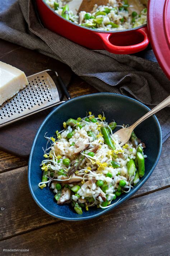
M 28 76 L 29 84 L 0 106 L 0 127 L 65 102 L 60 102 L 57 87 L 48 74 L 49 71 L 52 70 Z M 57 80 L 62 81 L 57 72 L 55 74 Z

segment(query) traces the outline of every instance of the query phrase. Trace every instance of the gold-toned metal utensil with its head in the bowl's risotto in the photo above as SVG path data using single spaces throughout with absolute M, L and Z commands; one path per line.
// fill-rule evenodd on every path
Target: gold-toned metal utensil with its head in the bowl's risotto
M 118 130 L 116 133 L 113 134 L 118 135 L 118 142 L 120 142 L 120 146 L 123 146 L 131 137 L 132 131 L 134 128 L 139 125 L 141 122 L 146 120 L 148 117 L 152 116 L 153 114 L 160 111 L 162 108 L 165 108 L 166 106 L 170 105 L 170 96 L 168 96 L 164 101 L 162 101 L 159 105 L 157 105 L 155 108 L 147 112 L 144 116 L 142 116 L 138 121 L 136 121 L 133 125 L 127 128 L 122 128 Z

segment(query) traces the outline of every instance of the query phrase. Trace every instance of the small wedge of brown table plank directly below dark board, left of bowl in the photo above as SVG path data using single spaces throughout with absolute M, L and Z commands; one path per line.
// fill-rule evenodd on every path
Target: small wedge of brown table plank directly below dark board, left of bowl
M 28 160 L 0 151 L 0 173 L 28 165 Z

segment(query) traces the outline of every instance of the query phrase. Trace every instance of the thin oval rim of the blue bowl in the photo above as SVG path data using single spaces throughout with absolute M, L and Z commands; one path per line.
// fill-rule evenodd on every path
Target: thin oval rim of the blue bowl
M 51 111 L 47 116 L 46 118 L 43 120 L 43 122 L 41 123 L 38 131 L 37 131 L 37 134 L 34 138 L 34 141 L 33 141 L 33 144 L 32 144 L 32 148 L 31 148 L 31 151 L 30 151 L 30 156 L 29 156 L 29 162 L 28 162 L 28 186 L 29 186 L 29 190 L 30 190 L 30 193 L 34 199 L 34 201 L 37 203 L 37 205 L 43 210 L 45 211 L 47 214 L 51 215 L 52 217 L 55 217 L 57 219 L 61 219 L 61 220 L 68 220 L 68 221 L 80 221 L 80 220 L 89 220 L 89 219 L 93 219 L 95 217 L 99 217 L 103 214 L 106 214 L 107 212 L 117 208 L 118 206 L 120 206 L 122 203 L 126 202 L 131 196 L 133 196 L 134 193 L 137 192 L 137 190 L 139 190 L 143 184 L 145 184 L 145 182 L 147 181 L 147 179 L 151 176 L 152 172 L 154 171 L 156 165 L 157 165 L 157 162 L 159 161 L 159 158 L 160 158 L 160 154 L 161 154 L 161 150 L 162 150 L 162 132 L 161 132 L 161 127 L 160 127 L 160 123 L 157 119 L 157 117 L 155 116 L 155 114 L 153 115 L 156 122 L 157 122 L 157 125 L 158 125 L 158 128 L 159 128 L 159 135 L 160 135 L 160 147 L 159 147 L 159 152 L 158 152 L 158 155 L 157 155 L 157 158 L 156 158 L 156 161 L 154 163 L 154 165 L 152 166 L 152 169 L 149 171 L 149 173 L 147 174 L 147 176 L 142 180 L 142 182 L 137 185 L 134 190 L 130 193 L 127 193 L 127 196 L 126 198 L 123 198 L 121 199 L 120 201 L 117 201 L 115 203 L 112 204 L 111 207 L 105 209 L 105 210 L 102 210 L 100 212 L 98 212 L 97 214 L 94 214 L 92 216 L 86 216 L 86 217 L 79 217 L 79 218 L 76 218 L 76 217 L 62 217 L 60 215 L 57 215 L 57 214 L 54 214 L 53 212 L 49 211 L 46 209 L 46 207 L 44 207 L 41 202 L 38 201 L 37 197 L 35 196 L 34 194 L 34 191 L 33 191 L 33 188 L 32 188 L 32 185 L 31 185 L 31 182 L 30 182 L 30 175 L 31 175 L 31 169 L 30 169 L 30 165 L 31 165 L 31 162 L 32 162 L 32 157 L 33 157 L 33 152 L 34 152 L 34 147 L 35 147 L 35 144 L 36 144 L 36 141 L 38 139 L 38 136 L 39 136 L 39 133 L 44 125 L 44 123 L 46 122 L 46 120 L 48 118 L 50 118 L 54 112 L 58 111 L 58 109 L 60 109 L 63 105 L 66 105 L 66 104 L 69 104 L 69 102 L 72 102 L 76 99 L 81 99 L 81 98 L 86 98 L 86 97 L 89 97 L 89 96 L 97 96 L 97 95 L 114 95 L 114 96 L 117 96 L 117 97 L 120 97 L 120 98 L 128 98 L 138 104 L 141 104 L 146 110 L 150 111 L 151 109 L 148 108 L 145 104 L 139 102 L 138 100 L 136 99 L 133 99 L 133 98 L 130 98 L 128 96 L 125 96 L 125 95 L 122 95 L 122 94 L 116 94 L 116 93 L 94 93 L 94 94 L 86 94 L 86 95 L 82 95 L 82 96 L 78 96 L 78 97 L 75 97 L 73 99 L 70 99 L 60 105 L 58 105 L 55 109 L 53 109 L 53 111 Z

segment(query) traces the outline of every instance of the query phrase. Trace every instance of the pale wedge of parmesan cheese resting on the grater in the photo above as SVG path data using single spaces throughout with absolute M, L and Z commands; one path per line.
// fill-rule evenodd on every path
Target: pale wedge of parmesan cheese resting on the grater
M 24 72 L 0 61 L 0 106 L 28 85 Z

